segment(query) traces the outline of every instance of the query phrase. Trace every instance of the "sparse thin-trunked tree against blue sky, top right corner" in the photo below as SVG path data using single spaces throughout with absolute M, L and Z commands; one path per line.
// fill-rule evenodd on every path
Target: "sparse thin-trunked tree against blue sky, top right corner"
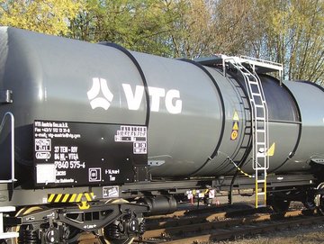
M 262 34 L 251 54 L 283 63 L 289 80 L 324 85 L 324 1 L 257 0 L 257 9 Z

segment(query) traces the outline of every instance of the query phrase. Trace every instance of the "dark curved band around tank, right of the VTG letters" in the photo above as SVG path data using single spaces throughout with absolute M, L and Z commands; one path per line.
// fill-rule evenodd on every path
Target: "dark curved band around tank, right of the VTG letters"
M 218 149 L 220 149 L 220 144 L 221 144 L 221 141 L 223 139 L 223 136 L 224 136 L 224 131 L 225 131 L 225 103 L 224 103 L 224 99 L 223 99 L 223 96 L 221 95 L 221 92 L 220 92 L 220 86 L 218 86 L 216 80 L 214 79 L 214 77 L 212 77 L 211 73 L 206 69 L 204 68 L 200 63 L 197 63 L 193 60 L 190 60 L 190 59 L 179 59 L 179 60 L 182 60 L 184 62 L 187 62 L 187 63 L 190 63 L 190 64 L 193 64 L 194 66 L 198 67 L 198 68 L 201 68 L 202 71 L 208 76 L 210 77 L 211 79 L 211 82 L 213 83 L 213 85 L 216 87 L 216 90 L 218 92 L 218 95 L 220 97 L 220 104 L 221 104 L 221 130 L 220 130 L 220 140 L 218 141 L 214 151 L 212 152 L 211 156 L 207 158 L 207 160 L 202 164 L 201 167 L 199 167 L 198 169 L 196 169 L 195 171 L 193 171 L 193 173 L 190 174 L 190 176 L 194 176 L 196 175 L 203 167 L 205 167 L 209 161 L 211 161 L 212 158 L 214 158 L 216 155 L 217 155 L 217 152 L 218 152 Z

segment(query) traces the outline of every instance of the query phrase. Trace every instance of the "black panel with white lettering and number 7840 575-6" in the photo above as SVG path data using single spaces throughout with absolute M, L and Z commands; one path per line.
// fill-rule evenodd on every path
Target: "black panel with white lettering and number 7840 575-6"
M 145 166 L 147 127 L 82 122 L 34 122 L 36 186 L 116 185 Z

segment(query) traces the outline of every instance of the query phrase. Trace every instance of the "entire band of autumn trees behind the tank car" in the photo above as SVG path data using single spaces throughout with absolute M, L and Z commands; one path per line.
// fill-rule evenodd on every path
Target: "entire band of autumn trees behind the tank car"
M 249 55 L 324 85 L 323 0 L 0 0 L 0 24 L 166 57 Z

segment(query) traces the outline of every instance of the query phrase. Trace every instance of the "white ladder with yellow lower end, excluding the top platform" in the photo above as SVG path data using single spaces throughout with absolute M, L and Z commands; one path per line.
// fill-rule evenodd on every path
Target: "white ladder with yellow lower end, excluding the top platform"
M 238 59 L 234 59 L 232 64 L 244 77 L 252 108 L 252 166 L 255 170 L 256 208 L 264 207 L 266 206 L 266 176 L 269 168 L 269 156 L 267 154 L 269 120 L 266 97 L 261 80 L 252 66 L 250 66 L 250 71 Z

